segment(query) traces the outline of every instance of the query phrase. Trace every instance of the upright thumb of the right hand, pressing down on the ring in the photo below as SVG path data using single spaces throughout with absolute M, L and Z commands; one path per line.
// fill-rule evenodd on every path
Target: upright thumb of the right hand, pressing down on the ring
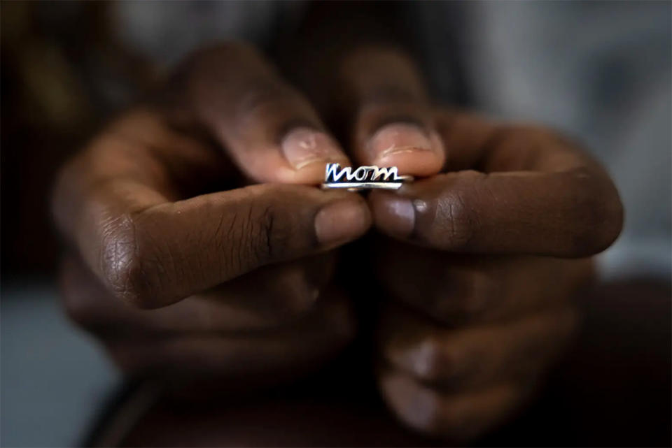
M 340 82 L 359 164 L 396 166 L 405 175 L 440 171 L 444 147 L 421 77 L 406 55 L 386 48 L 356 50 L 345 58 Z

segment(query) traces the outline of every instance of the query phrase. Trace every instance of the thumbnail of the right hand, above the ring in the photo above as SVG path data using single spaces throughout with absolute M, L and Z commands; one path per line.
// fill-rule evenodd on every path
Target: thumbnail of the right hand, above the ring
M 432 142 L 416 124 L 386 124 L 369 142 L 372 159 L 378 161 L 399 152 L 432 151 Z

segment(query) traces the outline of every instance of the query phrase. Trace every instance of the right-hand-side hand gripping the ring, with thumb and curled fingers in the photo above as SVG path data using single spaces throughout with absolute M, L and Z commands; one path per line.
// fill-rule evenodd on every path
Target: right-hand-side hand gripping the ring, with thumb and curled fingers
M 553 131 L 433 108 L 399 52 L 356 50 L 339 79 L 355 164 L 417 176 L 368 196 L 382 395 L 417 431 L 481 435 L 570 339 L 589 256 L 621 229 L 619 196 Z

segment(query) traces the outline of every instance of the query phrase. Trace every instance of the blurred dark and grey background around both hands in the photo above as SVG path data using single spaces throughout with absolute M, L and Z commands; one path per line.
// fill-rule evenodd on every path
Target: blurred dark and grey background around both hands
M 390 6 L 404 13 L 437 102 L 561 129 L 619 187 L 626 226 L 600 256 L 604 287 L 558 374 L 580 396 L 575 424 L 595 434 L 584 444 L 669 444 L 671 4 Z M 190 50 L 236 38 L 272 53 L 308 8 L 1 2 L 0 445 L 77 444 L 121 381 L 59 310 L 48 207 L 57 168 Z

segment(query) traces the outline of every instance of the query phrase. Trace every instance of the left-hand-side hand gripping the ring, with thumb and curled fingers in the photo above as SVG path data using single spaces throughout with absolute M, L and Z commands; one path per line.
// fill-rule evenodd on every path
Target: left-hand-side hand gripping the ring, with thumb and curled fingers
M 370 212 L 356 194 L 298 184 L 344 152 L 244 45 L 193 55 L 160 99 L 62 170 L 66 310 L 132 374 L 239 389 L 316 368 L 353 336 L 335 248 Z

